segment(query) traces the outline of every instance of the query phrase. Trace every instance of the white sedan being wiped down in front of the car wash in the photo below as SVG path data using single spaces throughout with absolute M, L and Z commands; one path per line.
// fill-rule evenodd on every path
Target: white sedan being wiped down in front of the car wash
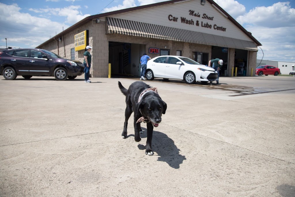
M 148 61 L 145 74 L 148 80 L 154 78 L 181 79 L 187 84 L 200 81 L 202 84 L 217 80 L 217 71 L 212 67 L 182 56 L 158 56 Z

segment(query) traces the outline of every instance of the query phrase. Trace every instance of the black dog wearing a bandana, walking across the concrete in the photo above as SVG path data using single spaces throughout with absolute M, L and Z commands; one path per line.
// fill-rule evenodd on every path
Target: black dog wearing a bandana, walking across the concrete
M 145 154 L 153 155 L 152 138 L 154 127 L 159 126 L 161 116 L 165 114 L 167 104 L 158 95 L 156 87 L 150 87 L 144 82 L 134 82 L 127 90 L 118 82 L 121 92 L 126 96 L 125 122 L 122 132 L 123 139 L 127 136 L 128 119 L 134 112 L 135 141 L 140 141 L 140 122 L 147 123 L 147 144 Z

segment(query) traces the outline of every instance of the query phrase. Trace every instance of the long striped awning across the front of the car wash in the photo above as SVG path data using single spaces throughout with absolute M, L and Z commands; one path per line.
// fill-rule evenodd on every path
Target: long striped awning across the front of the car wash
M 123 34 L 258 51 L 254 42 L 125 19 L 106 17 L 107 34 Z

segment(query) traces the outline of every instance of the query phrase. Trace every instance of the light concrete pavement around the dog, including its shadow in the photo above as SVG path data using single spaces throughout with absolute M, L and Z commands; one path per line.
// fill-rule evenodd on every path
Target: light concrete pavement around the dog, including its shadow
M 122 139 L 139 79 L 0 76 L 0 196 L 295 196 L 295 77 L 221 77 L 220 85 L 145 81 L 167 103 Z

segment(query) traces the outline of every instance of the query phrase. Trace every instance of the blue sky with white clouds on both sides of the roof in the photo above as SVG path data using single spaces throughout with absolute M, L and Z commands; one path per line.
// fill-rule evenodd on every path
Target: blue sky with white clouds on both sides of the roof
M 34 48 L 87 16 L 161 1 L 0 0 L 0 48 L 5 38 L 13 48 Z M 214 1 L 262 44 L 263 59 L 295 62 L 295 0 Z

